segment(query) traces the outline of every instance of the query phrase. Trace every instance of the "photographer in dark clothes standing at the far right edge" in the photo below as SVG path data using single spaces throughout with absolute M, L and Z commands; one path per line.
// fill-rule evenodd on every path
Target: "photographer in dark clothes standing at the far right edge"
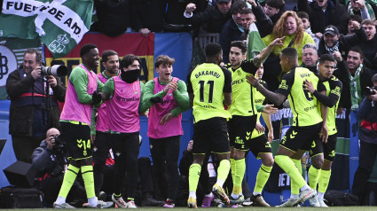
M 363 205 L 368 198 L 367 180 L 372 173 L 377 155 L 377 74 L 372 77 L 373 87 L 365 89 L 367 97 L 357 110 L 357 119 L 362 120 L 359 129 L 360 152 L 358 168 L 352 185 L 352 193 Z

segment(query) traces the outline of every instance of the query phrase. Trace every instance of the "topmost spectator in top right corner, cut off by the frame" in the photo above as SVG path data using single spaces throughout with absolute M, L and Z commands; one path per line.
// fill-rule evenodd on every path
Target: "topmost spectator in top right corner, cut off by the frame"
M 348 12 L 350 15 L 357 15 L 362 20 L 376 20 L 372 6 L 365 0 L 350 0 L 348 4 Z

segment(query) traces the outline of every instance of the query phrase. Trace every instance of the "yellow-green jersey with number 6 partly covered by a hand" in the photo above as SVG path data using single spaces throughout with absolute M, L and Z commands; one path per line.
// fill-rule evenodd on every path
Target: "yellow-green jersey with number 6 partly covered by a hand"
M 294 67 L 284 74 L 278 89 L 278 93 L 289 98 L 289 103 L 294 114 L 293 126 L 310 126 L 322 121 L 321 113 L 317 106 L 317 98 L 309 91 L 303 90 L 304 81 L 313 83 L 314 87 L 321 92 L 325 90 L 318 77 L 304 67 Z

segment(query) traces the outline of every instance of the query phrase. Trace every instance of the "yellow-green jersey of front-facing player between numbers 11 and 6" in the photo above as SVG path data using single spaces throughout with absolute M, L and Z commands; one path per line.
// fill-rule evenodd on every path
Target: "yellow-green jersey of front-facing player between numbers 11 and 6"
M 252 116 L 257 113 L 255 94 L 252 86 L 246 80 L 246 76 L 248 74 L 254 75 L 257 69 L 258 67 L 254 65 L 253 60 L 243 60 L 240 67 L 235 70 L 229 66 L 232 73 L 232 105 L 229 106 L 228 111 L 232 116 Z

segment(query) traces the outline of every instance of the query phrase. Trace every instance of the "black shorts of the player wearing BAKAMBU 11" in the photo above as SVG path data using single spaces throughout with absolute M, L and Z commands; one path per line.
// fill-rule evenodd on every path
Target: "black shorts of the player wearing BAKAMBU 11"
M 214 117 L 193 124 L 193 154 L 231 152 L 226 120 Z

